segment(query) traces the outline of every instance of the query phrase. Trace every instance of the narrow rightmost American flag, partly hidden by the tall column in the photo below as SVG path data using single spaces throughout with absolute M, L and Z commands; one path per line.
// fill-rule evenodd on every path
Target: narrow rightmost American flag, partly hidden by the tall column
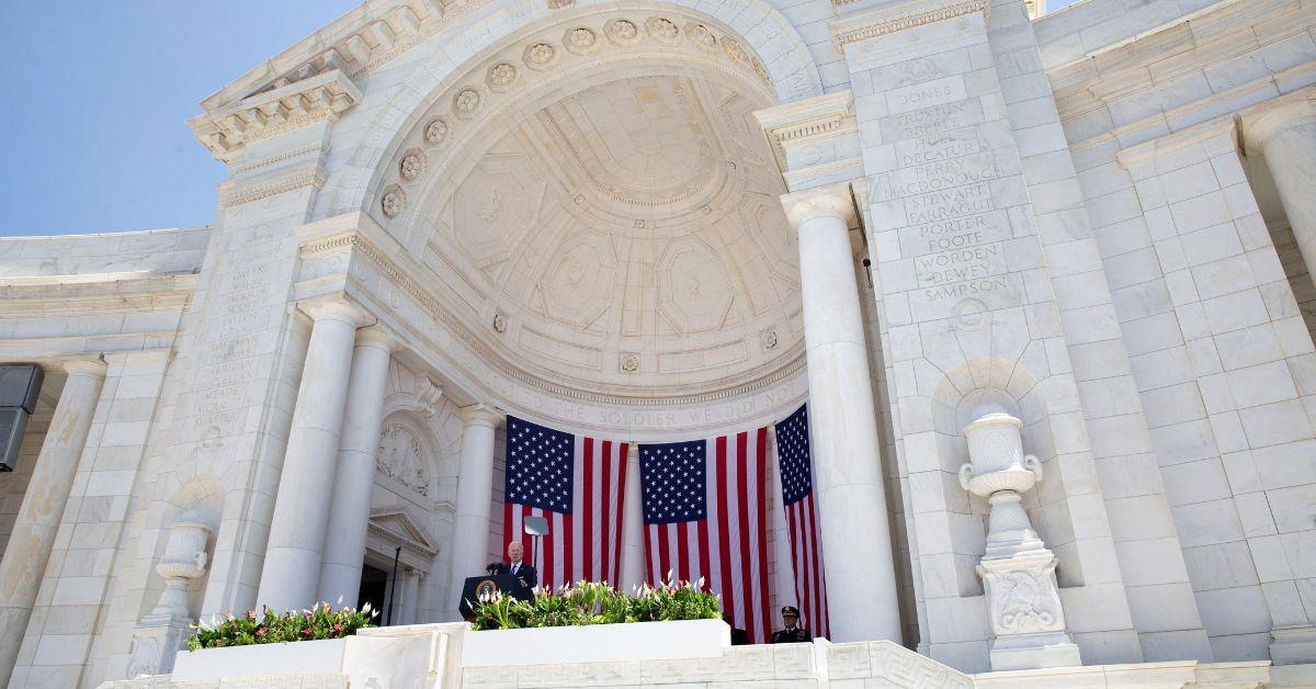
M 786 506 L 786 526 L 791 536 L 800 626 L 812 631 L 813 636 L 830 636 L 819 511 L 813 502 L 808 404 L 776 424 L 776 457 L 782 472 L 782 505 Z

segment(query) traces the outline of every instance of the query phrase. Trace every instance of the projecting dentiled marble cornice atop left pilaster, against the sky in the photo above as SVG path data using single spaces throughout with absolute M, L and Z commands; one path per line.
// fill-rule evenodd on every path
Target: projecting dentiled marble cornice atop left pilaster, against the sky
M 249 142 L 338 117 L 362 97 L 342 70 L 332 70 L 199 115 L 187 125 L 212 155 L 234 162 Z

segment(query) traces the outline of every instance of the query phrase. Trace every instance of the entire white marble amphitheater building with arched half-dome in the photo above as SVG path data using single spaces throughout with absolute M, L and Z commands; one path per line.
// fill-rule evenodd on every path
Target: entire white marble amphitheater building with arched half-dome
M 0 240 L 43 378 L 0 684 L 1316 685 L 1312 0 L 370 0 L 262 58 L 187 123 L 212 225 Z M 454 622 L 508 415 L 804 400 L 829 640 Z M 197 619 L 384 577 L 328 669 L 171 675 Z

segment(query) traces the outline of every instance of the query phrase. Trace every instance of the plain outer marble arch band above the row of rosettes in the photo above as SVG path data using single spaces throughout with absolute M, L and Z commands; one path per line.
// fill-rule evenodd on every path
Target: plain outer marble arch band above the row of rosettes
M 446 91 L 459 80 L 472 76 L 471 69 L 486 61 L 490 54 L 503 50 L 537 30 L 574 21 L 570 17 L 547 14 L 542 5 L 533 12 L 517 11 L 515 7 L 517 1 L 497 0 L 486 8 L 488 11 L 487 20 L 454 25 L 450 30 L 429 40 L 429 50 L 434 53 L 436 59 L 413 69 L 403 79 L 405 86 L 392 92 L 390 103 L 368 111 L 372 120 L 365 125 L 366 133 L 358 148 L 345 157 L 349 163 L 345 170 L 336 175 L 338 179 L 332 183 L 334 190 L 326 188 L 325 194 L 320 196 L 317 216 L 326 217 L 363 208 L 372 211 L 378 207 L 382 194 L 374 192 L 380 187 L 384 162 L 396 157 L 405 133 L 420 123 L 424 113 Z M 817 65 L 813 62 L 808 46 L 795 26 L 763 0 L 747 0 L 734 5 L 716 4 L 713 7 L 697 0 L 594 3 L 582 4 L 572 17 L 603 16 L 616 12 L 662 13 L 665 11 L 683 18 L 701 20 L 734 37 L 738 45 L 745 49 L 749 59 L 772 84 L 778 103 L 822 94 Z M 449 51 L 438 47 L 446 45 L 462 46 L 461 50 L 453 51 L 462 57 L 453 58 Z

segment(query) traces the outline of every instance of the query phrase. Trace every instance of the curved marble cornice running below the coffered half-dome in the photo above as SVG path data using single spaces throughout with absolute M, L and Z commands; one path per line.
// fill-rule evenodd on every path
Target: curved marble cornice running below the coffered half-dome
M 424 269 L 416 265 L 405 265 L 409 262 L 409 258 L 400 250 L 400 248 L 396 253 L 382 249 L 382 245 L 395 245 L 395 242 L 392 237 L 390 237 L 383 229 L 378 228 L 378 225 L 370 220 L 368 216 L 365 213 L 350 213 L 346 219 L 340 216 L 338 219 L 330 219 L 317 225 L 318 227 L 316 227 L 316 229 L 309 229 L 303 234 L 304 238 L 299 249 L 303 265 L 307 265 L 315 258 L 330 258 L 343 254 L 347 258 L 346 261 L 330 261 L 337 266 L 336 270 L 340 273 L 333 275 L 315 275 L 309 277 L 309 279 L 299 281 L 295 291 L 303 292 L 304 290 L 300 290 L 299 287 L 313 283 L 315 286 L 321 287 L 321 291 L 343 290 L 349 294 L 349 296 L 351 296 L 351 292 L 357 290 L 372 292 L 372 290 L 351 277 L 354 273 L 353 266 L 357 265 L 358 261 L 363 261 L 378 271 L 384 279 L 387 279 L 399 292 L 407 295 L 416 304 L 418 304 L 422 311 L 447 328 L 453 336 L 476 357 L 479 357 L 484 365 L 497 370 L 509 379 L 558 399 L 592 402 L 621 407 L 679 407 L 705 404 L 725 399 L 736 399 L 738 397 L 767 389 L 794 377 L 805 365 L 804 350 L 800 348 L 796 356 L 791 357 L 787 362 L 778 366 L 771 373 L 755 375 L 749 379 L 742 377 L 737 381 L 729 381 L 724 389 L 687 395 L 675 394 L 678 387 L 671 390 L 645 389 L 634 394 L 609 394 L 607 391 L 588 390 L 586 387 L 591 385 L 588 382 L 570 385 L 549 381 L 512 364 L 503 353 L 497 352 L 475 335 L 475 332 L 470 328 L 468 317 L 459 317 L 437 298 L 434 298 L 428 290 L 422 289 L 418 283 L 418 275 Z M 305 291 L 309 292 L 309 290 Z M 305 294 L 305 296 L 309 296 L 309 294 Z M 371 299 L 362 299 L 361 302 L 371 302 L 374 300 L 374 296 L 378 295 L 371 294 L 370 296 Z M 380 320 L 391 317 L 390 314 L 384 314 L 380 310 L 375 311 L 375 316 Z

